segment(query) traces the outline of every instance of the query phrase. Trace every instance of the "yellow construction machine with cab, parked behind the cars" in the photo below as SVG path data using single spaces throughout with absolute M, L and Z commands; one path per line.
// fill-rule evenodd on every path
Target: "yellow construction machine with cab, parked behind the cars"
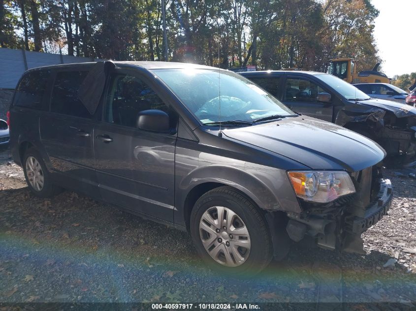
M 378 71 L 378 62 L 373 70 L 364 70 L 357 73 L 357 60 L 353 58 L 337 58 L 329 61 L 328 73 L 337 76 L 348 83 L 390 83 L 391 79 Z

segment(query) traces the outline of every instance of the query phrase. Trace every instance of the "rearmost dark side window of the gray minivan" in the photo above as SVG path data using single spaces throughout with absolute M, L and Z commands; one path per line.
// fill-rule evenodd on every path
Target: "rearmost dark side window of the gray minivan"
M 36 70 L 27 73 L 20 81 L 14 97 L 14 106 L 47 110 L 42 98 L 45 94 L 50 70 Z

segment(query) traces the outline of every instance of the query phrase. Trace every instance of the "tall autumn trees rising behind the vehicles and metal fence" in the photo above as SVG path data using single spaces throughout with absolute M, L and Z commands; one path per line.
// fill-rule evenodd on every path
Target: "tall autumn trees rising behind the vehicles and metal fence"
M 165 0 L 169 60 L 223 68 L 325 70 L 379 61 L 370 0 Z M 161 0 L 0 0 L 4 47 L 164 60 Z M 38 25 L 38 26 L 37 26 Z

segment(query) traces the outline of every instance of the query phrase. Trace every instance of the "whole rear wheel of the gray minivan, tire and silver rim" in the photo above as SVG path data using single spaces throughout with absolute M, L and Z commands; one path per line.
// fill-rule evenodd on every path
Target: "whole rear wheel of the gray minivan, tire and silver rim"
M 26 183 L 36 197 L 50 198 L 62 191 L 62 188 L 53 183 L 42 156 L 33 148 L 25 153 L 23 171 Z

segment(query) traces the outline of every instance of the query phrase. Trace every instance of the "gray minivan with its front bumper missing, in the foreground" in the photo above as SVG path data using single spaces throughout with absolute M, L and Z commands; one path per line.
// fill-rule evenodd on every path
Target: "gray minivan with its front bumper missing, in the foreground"
M 362 252 L 391 203 L 384 150 L 299 115 L 226 70 L 97 62 L 27 71 L 10 144 L 30 190 L 83 192 L 191 233 L 210 265 L 240 274 L 291 241 Z

